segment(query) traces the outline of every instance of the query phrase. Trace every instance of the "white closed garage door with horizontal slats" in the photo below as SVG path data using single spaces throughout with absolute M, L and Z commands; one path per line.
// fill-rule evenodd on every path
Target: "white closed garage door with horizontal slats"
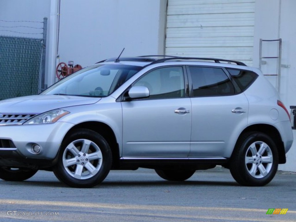
M 168 0 L 166 54 L 252 65 L 255 0 Z

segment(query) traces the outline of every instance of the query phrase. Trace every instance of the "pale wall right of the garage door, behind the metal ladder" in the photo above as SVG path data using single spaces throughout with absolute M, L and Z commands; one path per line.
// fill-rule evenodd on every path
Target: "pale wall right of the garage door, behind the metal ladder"
M 253 65 L 259 67 L 259 39 L 282 39 L 281 64 L 289 68 L 281 67 L 282 102 L 288 110 L 291 105 L 296 105 L 296 20 L 295 0 L 256 0 L 255 5 L 255 37 L 254 37 L 254 61 Z M 271 43 L 263 45 L 263 56 L 277 54 L 276 46 Z M 276 74 L 277 60 L 263 59 L 266 65 L 262 65 L 264 74 Z M 276 77 L 267 77 L 276 84 Z M 296 130 L 293 130 L 296 140 Z M 279 166 L 279 170 L 296 171 L 296 142 L 287 153 L 287 163 Z

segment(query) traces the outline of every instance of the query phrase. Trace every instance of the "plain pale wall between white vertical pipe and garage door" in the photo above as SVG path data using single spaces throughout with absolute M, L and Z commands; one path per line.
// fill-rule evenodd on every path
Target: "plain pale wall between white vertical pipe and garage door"
M 59 62 L 164 54 L 166 0 L 62 0 Z

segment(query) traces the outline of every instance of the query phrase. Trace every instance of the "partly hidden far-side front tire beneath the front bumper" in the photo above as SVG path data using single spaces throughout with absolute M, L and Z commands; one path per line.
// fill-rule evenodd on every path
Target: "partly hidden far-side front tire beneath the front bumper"
M 24 181 L 37 173 L 38 170 L 28 168 L 1 167 L 0 178 L 6 181 Z

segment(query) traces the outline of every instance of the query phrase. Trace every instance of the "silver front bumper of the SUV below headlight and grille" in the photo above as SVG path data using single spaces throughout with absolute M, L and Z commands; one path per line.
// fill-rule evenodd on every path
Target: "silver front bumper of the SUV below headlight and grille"
M 57 156 L 65 134 L 73 125 L 56 122 L 0 126 L 0 166 L 20 166 L 23 163 L 50 165 Z M 32 151 L 33 144 L 41 147 L 39 153 Z

